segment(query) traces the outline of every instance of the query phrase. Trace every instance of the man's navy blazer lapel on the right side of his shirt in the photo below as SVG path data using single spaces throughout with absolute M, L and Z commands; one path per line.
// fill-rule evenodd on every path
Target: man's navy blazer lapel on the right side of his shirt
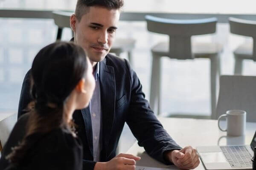
M 106 58 L 100 62 L 100 87 L 102 103 L 102 144 L 105 156 L 107 156 L 108 142 L 113 127 L 116 84 L 114 77 L 114 68 L 106 65 Z M 105 150 L 104 150 L 105 149 Z

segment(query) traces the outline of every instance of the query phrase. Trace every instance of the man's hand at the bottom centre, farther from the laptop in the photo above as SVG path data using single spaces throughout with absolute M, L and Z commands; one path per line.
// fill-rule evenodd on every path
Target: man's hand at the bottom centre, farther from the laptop
M 120 153 L 107 162 L 97 162 L 94 170 L 135 170 L 136 161 L 140 157 L 131 154 Z

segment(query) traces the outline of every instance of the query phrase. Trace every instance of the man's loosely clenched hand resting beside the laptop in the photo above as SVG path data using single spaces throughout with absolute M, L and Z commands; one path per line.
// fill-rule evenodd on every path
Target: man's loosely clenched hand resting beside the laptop
M 191 146 L 186 146 L 181 150 L 167 152 L 165 157 L 175 164 L 176 167 L 183 170 L 195 169 L 200 163 L 196 149 Z

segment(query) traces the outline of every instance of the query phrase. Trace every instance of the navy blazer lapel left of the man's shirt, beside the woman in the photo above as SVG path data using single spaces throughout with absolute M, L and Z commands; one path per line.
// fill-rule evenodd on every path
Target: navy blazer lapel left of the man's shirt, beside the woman
M 87 142 L 89 145 L 90 153 L 93 157 L 93 129 L 92 129 L 92 120 L 90 116 L 90 107 L 84 108 L 81 110 L 82 116 L 84 119 L 84 126 L 85 126 L 85 134 L 87 137 Z

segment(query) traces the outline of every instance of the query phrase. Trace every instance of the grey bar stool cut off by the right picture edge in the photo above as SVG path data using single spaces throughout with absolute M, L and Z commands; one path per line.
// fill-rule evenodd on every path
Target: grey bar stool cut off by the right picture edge
M 244 42 L 233 52 L 235 57 L 235 74 L 242 74 L 243 60 L 256 61 L 256 21 L 229 18 L 230 32 L 233 34 L 252 37 L 253 42 Z

